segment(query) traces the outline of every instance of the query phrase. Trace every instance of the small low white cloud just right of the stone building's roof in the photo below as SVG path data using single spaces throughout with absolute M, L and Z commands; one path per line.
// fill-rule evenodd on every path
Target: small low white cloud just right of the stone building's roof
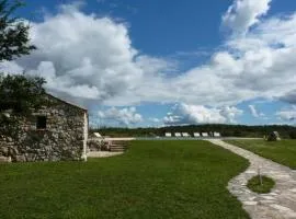
M 143 122 L 143 117 L 137 113 L 135 107 L 116 108 L 111 107 L 106 111 L 98 112 L 99 118 L 111 122 L 117 122 L 119 125 L 134 125 Z

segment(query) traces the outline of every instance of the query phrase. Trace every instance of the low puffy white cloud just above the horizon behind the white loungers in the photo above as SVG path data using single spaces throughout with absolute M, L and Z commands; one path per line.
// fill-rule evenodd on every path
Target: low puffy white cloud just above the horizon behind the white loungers
M 241 114 L 242 111 L 234 106 L 213 108 L 182 103 L 175 105 L 173 112 L 167 114 L 163 118 L 163 123 L 166 125 L 235 123 L 236 117 Z

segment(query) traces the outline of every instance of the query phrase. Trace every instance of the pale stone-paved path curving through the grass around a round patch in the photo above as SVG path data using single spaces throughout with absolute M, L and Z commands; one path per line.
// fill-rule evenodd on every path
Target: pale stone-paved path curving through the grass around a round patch
M 226 148 L 249 160 L 250 166 L 228 183 L 228 189 L 242 203 L 243 208 L 253 219 L 296 219 L 296 171 L 259 157 L 250 151 L 209 139 L 212 143 Z M 248 180 L 258 174 L 272 177 L 276 185 L 269 194 L 257 194 L 247 186 Z

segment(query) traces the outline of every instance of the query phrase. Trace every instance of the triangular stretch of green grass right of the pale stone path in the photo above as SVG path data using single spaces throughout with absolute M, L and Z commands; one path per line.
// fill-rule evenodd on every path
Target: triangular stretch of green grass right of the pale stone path
M 291 169 L 296 169 L 296 140 L 226 140 L 226 142 L 250 150 Z

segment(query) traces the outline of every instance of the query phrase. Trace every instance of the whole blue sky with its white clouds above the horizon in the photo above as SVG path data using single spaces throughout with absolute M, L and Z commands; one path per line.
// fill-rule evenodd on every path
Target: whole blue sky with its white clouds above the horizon
M 92 125 L 296 123 L 294 0 L 30 0 L 38 50 L 3 64 Z M 281 46 L 276 46 L 281 45 Z

